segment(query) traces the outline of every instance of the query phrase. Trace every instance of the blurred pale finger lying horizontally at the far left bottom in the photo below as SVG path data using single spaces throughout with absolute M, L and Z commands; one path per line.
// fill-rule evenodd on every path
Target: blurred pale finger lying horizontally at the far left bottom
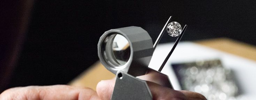
M 100 100 L 96 91 L 68 85 L 27 86 L 11 88 L 0 94 L 0 100 Z

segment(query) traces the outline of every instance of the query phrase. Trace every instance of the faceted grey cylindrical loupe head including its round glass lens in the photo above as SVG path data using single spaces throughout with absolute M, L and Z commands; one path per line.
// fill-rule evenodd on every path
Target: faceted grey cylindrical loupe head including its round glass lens
M 144 75 L 152 54 L 152 39 L 141 27 L 106 31 L 98 43 L 101 63 L 114 74 L 121 70 L 133 76 Z

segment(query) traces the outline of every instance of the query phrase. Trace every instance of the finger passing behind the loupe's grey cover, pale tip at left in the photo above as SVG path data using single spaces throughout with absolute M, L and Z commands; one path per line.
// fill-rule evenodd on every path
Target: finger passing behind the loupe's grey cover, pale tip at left
M 100 81 L 97 85 L 97 93 L 102 100 L 111 100 L 115 80 Z M 176 91 L 147 81 L 153 100 L 207 100 L 203 95 L 190 91 Z

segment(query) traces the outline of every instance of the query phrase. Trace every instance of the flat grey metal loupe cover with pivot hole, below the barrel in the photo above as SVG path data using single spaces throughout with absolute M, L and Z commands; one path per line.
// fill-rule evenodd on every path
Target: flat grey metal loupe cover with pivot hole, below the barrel
M 118 71 L 111 100 L 152 100 L 152 94 L 145 81 Z

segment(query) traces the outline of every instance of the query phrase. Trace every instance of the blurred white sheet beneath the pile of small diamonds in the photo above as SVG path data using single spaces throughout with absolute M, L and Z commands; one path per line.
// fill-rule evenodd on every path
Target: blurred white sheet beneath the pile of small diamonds
M 159 44 L 153 53 L 149 67 L 155 70 L 163 63 L 170 52 L 173 43 Z M 256 53 L 256 52 L 255 52 Z M 246 58 L 211 49 L 191 42 L 180 42 L 167 61 L 162 72 L 169 76 L 175 90 L 180 90 L 178 80 L 171 68 L 171 63 L 185 63 L 196 60 L 220 59 L 224 67 L 234 71 L 235 78 L 239 81 L 242 95 L 248 100 L 256 100 L 256 62 Z

